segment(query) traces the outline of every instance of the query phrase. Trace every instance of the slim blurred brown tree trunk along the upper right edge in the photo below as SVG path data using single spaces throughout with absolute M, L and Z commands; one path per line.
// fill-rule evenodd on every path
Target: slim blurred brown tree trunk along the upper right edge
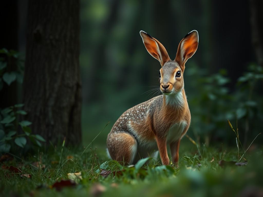
M 250 22 L 252 44 L 256 53 L 257 62 L 263 67 L 263 1 L 250 0 Z

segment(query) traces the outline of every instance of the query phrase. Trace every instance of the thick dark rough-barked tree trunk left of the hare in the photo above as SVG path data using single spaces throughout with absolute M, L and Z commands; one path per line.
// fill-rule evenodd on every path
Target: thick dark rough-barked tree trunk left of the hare
M 24 103 L 32 132 L 81 142 L 79 0 L 29 0 Z

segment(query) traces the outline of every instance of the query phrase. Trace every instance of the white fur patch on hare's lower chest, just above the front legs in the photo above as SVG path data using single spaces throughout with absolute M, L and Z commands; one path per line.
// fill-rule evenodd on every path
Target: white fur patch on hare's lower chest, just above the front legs
M 180 139 L 186 126 L 186 121 L 181 121 L 172 125 L 167 134 L 167 142 L 170 143 Z

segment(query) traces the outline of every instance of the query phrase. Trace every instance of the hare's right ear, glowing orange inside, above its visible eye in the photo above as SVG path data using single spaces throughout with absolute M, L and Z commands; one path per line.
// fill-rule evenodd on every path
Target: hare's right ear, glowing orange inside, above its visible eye
M 177 61 L 182 70 L 185 68 L 186 61 L 191 58 L 198 47 L 198 32 L 193 30 L 189 32 L 179 43 L 175 61 Z

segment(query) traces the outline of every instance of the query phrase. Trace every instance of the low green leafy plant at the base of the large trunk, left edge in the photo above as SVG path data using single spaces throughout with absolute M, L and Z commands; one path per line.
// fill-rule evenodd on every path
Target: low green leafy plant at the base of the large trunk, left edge
M 36 134 L 32 134 L 29 127 L 32 123 L 27 120 L 18 122 L 18 115 L 24 116 L 26 111 L 21 110 L 24 104 L 16 104 L 1 110 L 0 114 L 0 152 L 9 152 L 11 144 L 14 143 L 19 147 L 24 148 L 27 143 L 27 138 L 33 144 L 41 147 L 40 142 L 45 142 L 45 139 Z M 18 133 L 19 128 L 23 133 Z

